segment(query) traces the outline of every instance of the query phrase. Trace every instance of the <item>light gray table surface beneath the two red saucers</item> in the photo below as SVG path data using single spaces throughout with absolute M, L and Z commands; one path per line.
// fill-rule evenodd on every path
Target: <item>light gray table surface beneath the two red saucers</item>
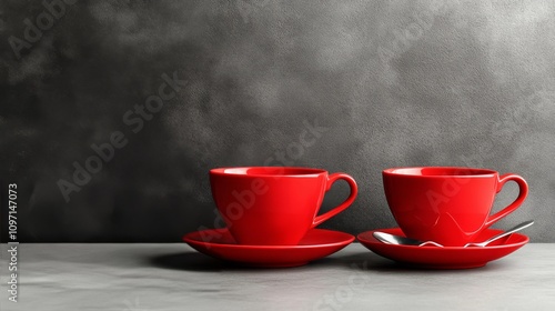
M 353 243 L 304 267 L 245 269 L 186 244 L 20 244 L 1 310 L 555 310 L 555 243 L 471 270 L 411 270 Z

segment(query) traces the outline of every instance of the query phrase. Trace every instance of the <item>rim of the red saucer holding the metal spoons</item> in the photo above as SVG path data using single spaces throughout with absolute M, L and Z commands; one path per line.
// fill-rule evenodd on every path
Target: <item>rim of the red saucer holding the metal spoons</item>
M 391 230 L 401 230 L 402 229 L 400 227 L 393 227 L 393 228 L 382 228 L 382 229 L 374 229 L 374 230 L 367 230 L 367 231 L 364 231 L 364 232 L 361 232 L 359 234 L 356 234 L 356 240 L 359 242 L 366 242 L 366 243 L 374 243 L 374 244 L 384 244 L 384 245 L 389 245 L 389 247 L 392 247 L 392 248 L 403 248 L 403 249 L 425 249 L 425 250 L 432 250 L 432 249 L 435 249 L 435 250 L 491 250 L 491 249 L 505 249 L 505 248 L 511 248 L 511 247 L 517 247 L 517 245 L 524 245 L 526 243 L 529 242 L 529 237 L 526 235 L 526 234 L 523 234 L 523 233 L 519 233 L 519 232 L 513 232 L 512 234 L 516 234 L 516 235 L 519 235 L 519 237 L 524 237 L 524 240 L 523 241 L 519 241 L 519 242 L 514 242 L 514 243 L 504 243 L 504 244 L 500 244 L 500 245 L 485 245 L 485 247 L 443 247 L 443 248 L 440 248 L 440 247 L 435 247 L 435 245 L 423 245 L 423 247 L 418 247 L 418 245 L 397 245 L 397 244 L 387 244 L 387 243 L 384 243 L 384 242 L 381 242 L 379 241 L 376 238 L 374 238 L 374 235 L 372 233 L 376 232 L 376 231 L 382 231 L 382 232 L 386 232 L 386 233 L 390 233 L 389 231 Z M 494 231 L 495 233 L 502 233 L 504 232 L 504 230 L 502 229 L 494 229 L 494 228 L 487 228 L 485 229 L 487 231 Z M 494 234 L 495 234 L 494 233 Z M 370 235 L 371 239 L 365 239 L 365 238 L 361 238 L 361 235 Z M 404 235 L 403 235 L 404 237 Z

